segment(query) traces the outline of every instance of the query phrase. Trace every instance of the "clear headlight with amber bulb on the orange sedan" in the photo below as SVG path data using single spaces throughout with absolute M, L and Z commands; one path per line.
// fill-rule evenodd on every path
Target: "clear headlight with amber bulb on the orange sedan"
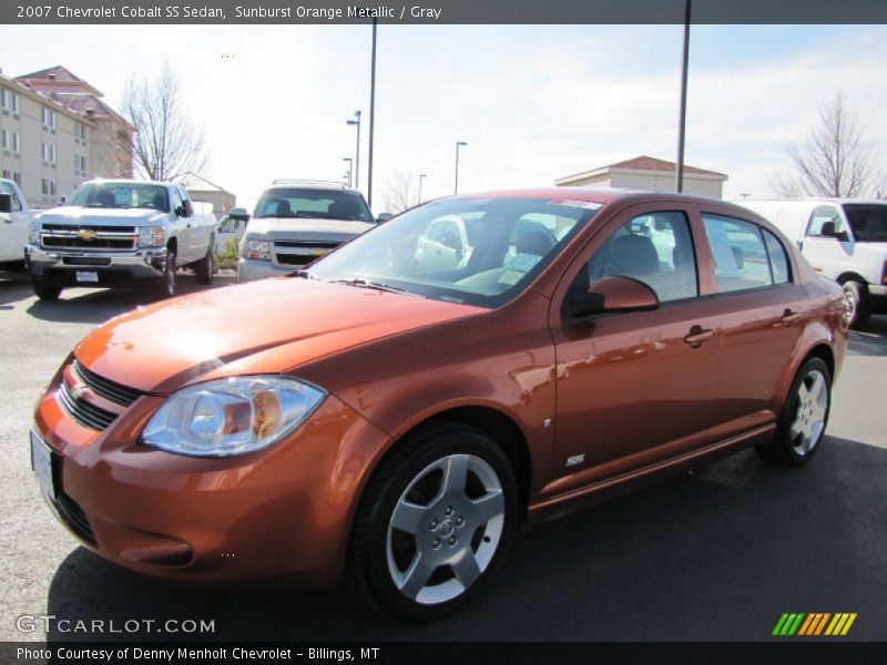
M 142 443 L 176 454 L 232 457 L 267 448 L 310 416 L 326 392 L 277 376 L 234 377 L 172 395 Z

